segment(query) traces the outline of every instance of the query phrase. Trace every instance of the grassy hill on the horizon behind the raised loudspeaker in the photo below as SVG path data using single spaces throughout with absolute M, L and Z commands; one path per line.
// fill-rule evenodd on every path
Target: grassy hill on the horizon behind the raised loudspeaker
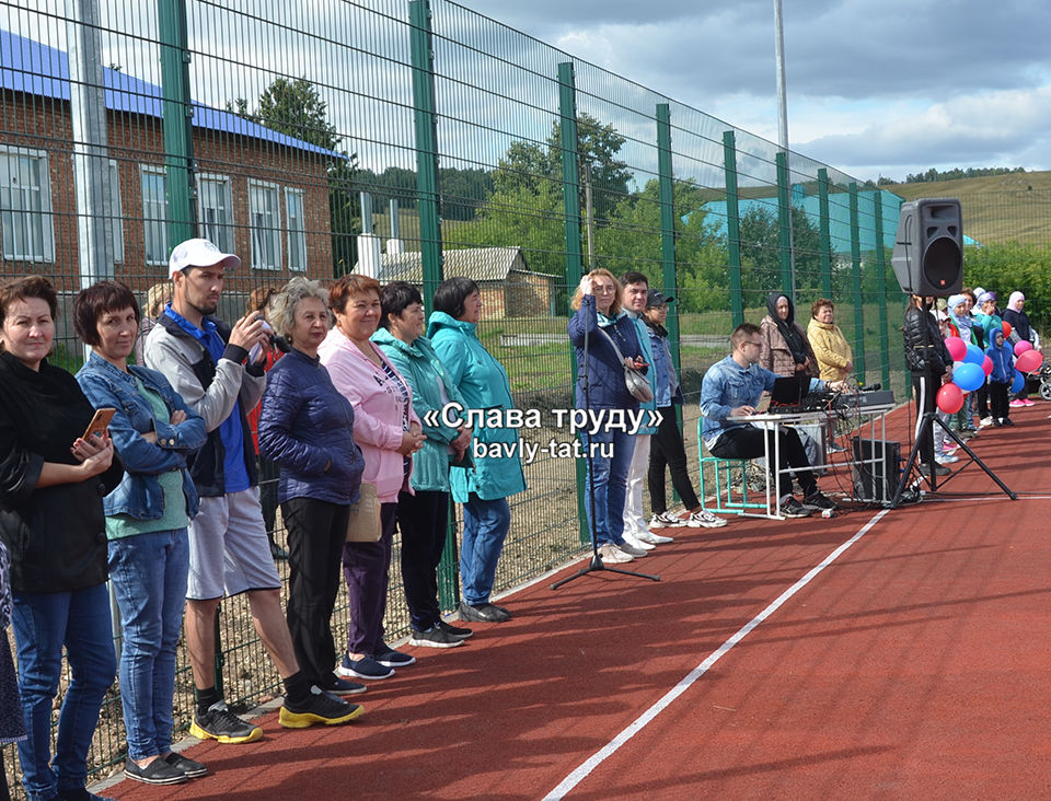
M 983 244 L 1051 242 L 1051 172 L 880 187 L 905 200 L 959 198 L 963 233 Z

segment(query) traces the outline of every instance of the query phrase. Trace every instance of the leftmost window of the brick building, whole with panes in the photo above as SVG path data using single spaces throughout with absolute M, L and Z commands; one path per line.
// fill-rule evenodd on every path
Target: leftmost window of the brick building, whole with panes
M 0 148 L 0 230 L 5 259 L 55 262 L 51 182 L 43 150 Z

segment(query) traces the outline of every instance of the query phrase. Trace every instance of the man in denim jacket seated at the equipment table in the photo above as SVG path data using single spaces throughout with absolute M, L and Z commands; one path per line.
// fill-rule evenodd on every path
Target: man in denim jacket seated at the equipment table
M 755 414 L 763 392 L 773 388 L 779 378 L 759 365 L 763 337 L 758 325 L 741 323 L 730 335 L 732 352 L 716 362 L 704 374 L 701 385 L 701 414 L 704 415 L 701 436 L 708 452 L 720 458 L 755 458 L 765 452 L 764 438 L 770 437 L 770 450 L 774 450 L 774 432 L 757 428 L 741 419 Z M 810 392 L 845 390 L 843 382 L 810 380 Z M 835 509 L 835 502 L 818 490 L 818 483 L 810 471 L 810 461 L 792 428 L 778 430 L 779 463 L 774 476 L 778 509 L 786 518 L 806 518 L 811 509 Z M 767 466 L 769 468 L 769 466 Z M 785 491 L 781 489 L 781 471 L 790 469 L 804 494 L 800 503 L 792 496 L 792 480 Z

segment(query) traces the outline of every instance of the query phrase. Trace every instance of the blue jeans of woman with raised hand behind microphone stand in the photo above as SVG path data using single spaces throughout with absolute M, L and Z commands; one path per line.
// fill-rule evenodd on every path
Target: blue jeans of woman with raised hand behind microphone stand
M 593 448 L 589 474 L 584 485 L 588 525 L 594 541 L 601 546 L 624 542 L 624 498 L 627 496 L 627 474 L 635 452 L 635 437 L 624 431 L 599 431 L 580 434 L 587 451 Z M 610 454 L 612 449 L 613 453 Z M 591 484 L 594 479 L 594 515 L 591 514 Z

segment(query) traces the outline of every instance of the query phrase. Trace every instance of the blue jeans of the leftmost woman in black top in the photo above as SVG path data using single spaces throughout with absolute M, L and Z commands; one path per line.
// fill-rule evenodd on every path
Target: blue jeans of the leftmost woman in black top
M 16 592 L 11 622 L 28 735 L 19 743 L 22 783 L 30 801 L 45 801 L 60 790 L 83 787 L 88 778 L 88 748 L 116 672 L 106 585 L 71 592 Z M 62 671 L 62 646 L 72 678 L 58 718 L 53 766 L 51 704 Z

